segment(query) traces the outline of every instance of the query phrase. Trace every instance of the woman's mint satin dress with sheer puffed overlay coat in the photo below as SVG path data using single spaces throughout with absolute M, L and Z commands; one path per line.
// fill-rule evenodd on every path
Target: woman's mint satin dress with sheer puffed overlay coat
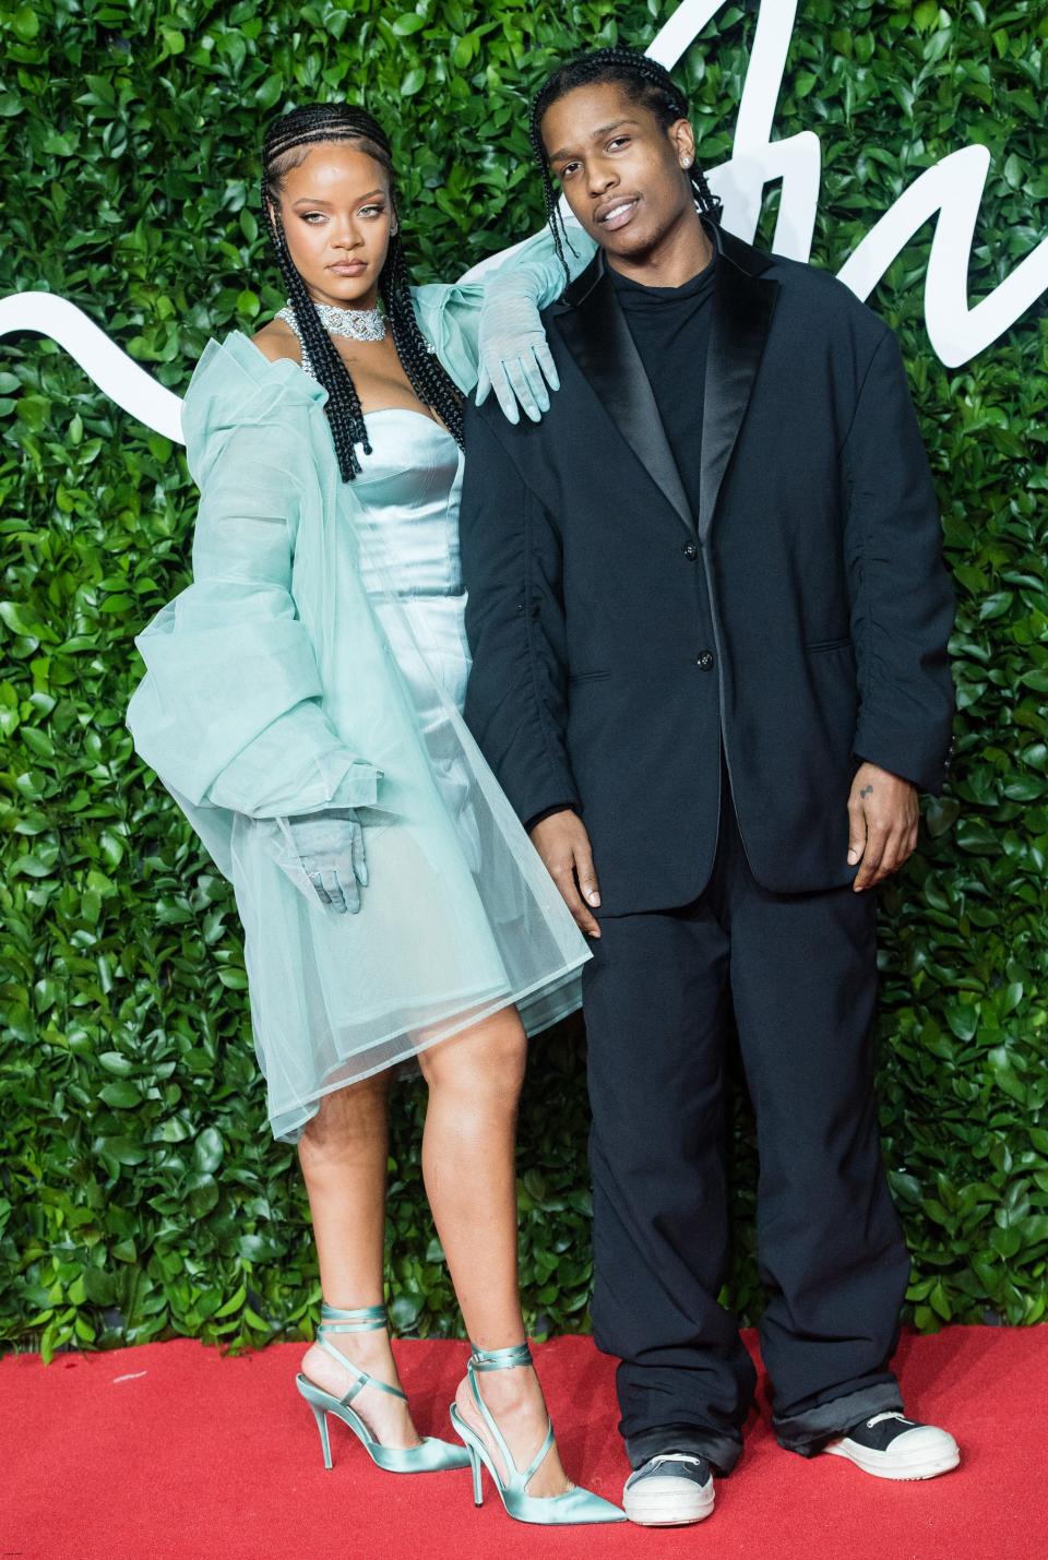
M 549 296 L 560 282 L 551 264 Z M 482 292 L 415 292 L 466 393 Z M 343 482 L 324 401 L 246 337 L 209 342 L 182 412 L 193 583 L 139 636 L 128 711 L 232 881 L 270 1123 L 290 1142 L 324 1094 L 510 1003 L 529 1033 L 563 1017 L 590 958 L 462 719 L 458 446 L 420 412 L 371 412 L 373 454 Z M 332 807 L 365 825 L 356 916 L 281 866 L 284 819 Z

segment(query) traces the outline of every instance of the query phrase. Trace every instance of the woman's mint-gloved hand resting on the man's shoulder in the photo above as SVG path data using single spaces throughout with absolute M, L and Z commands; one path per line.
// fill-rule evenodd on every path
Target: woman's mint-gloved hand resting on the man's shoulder
M 549 390 L 560 390 L 554 356 L 538 315 L 535 278 L 521 267 L 496 275 L 485 287 L 477 351 L 477 406 L 494 390 L 510 423 L 519 423 L 518 401 L 540 423 L 549 412 Z M 543 378 L 544 376 L 544 378 Z

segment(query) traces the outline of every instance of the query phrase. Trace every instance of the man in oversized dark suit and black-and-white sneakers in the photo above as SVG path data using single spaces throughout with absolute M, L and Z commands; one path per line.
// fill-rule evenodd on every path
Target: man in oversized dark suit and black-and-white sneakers
M 466 719 L 594 958 L 594 1328 L 635 1521 L 697 1521 L 755 1376 L 727 1273 L 725 1045 L 756 1111 L 783 1446 L 953 1468 L 889 1370 L 909 1260 L 872 1097 L 875 903 L 944 782 L 953 601 L 890 331 L 716 223 L 669 75 L 558 70 L 533 140 L 596 239 L 555 412 L 473 409 Z M 554 229 L 558 231 L 557 226 Z

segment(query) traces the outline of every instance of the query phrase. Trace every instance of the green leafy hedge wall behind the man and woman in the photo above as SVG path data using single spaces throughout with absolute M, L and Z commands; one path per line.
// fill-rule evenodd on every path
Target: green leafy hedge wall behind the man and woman
M 395 131 L 416 278 L 452 278 L 541 220 L 524 105 L 551 64 L 646 47 L 674 9 L 401 3 L 3 0 L 0 295 L 72 298 L 182 390 L 209 335 L 281 301 L 254 212 L 260 123 L 340 95 Z M 706 164 L 730 153 L 755 19 L 727 6 L 678 67 Z M 1037 5 L 802 3 L 775 126 L 822 139 L 816 262 L 839 268 L 920 168 L 976 140 L 993 170 L 972 295 L 997 285 L 1048 231 L 1046 34 Z M 769 190 L 766 239 L 774 204 Z M 872 300 L 905 345 L 961 597 L 951 788 L 883 902 L 883 1126 L 920 1328 L 1039 1320 L 1048 1253 L 1048 329 L 1032 310 L 944 370 L 923 329 L 931 232 Z M 187 579 L 193 490 L 181 451 L 55 345 L 22 337 L 2 356 L 0 1337 L 50 1354 L 304 1332 L 304 1198 L 264 1125 L 231 895 L 123 727 L 133 635 Z M 538 1042 L 524 1109 L 540 1331 L 586 1324 L 580 1059 L 577 1025 Z M 390 1289 L 404 1329 L 452 1332 L 421 1109 L 405 1086 Z M 731 1287 L 753 1317 L 744 1104 L 736 1161 Z

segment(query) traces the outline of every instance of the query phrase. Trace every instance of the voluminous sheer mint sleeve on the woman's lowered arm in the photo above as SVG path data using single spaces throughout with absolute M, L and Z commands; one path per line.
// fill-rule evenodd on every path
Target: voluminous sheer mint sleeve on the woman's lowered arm
M 137 752 L 192 803 L 251 817 L 374 805 L 381 771 L 324 714 L 292 596 L 303 490 L 281 440 L 232 427 L 198 480 L 193 583 L 136 641 Z

